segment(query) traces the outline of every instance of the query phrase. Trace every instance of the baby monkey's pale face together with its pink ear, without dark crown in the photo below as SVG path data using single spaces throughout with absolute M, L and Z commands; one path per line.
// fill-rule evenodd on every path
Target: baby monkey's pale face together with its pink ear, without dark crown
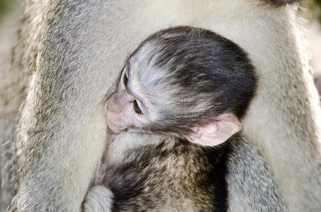
M 162 132 L 203 146 L 223 143 L 240 131 L 240 122 L 228 112 L 215 116 L 215 121 L 198 122 L 191 112 L 198 105 L 176 104 L 175 95 L 184 88 L 169 81 L 168 72 L 128 59 L 118 90 L 107 101 L 108 127 L 116 134 L 126 129 Z

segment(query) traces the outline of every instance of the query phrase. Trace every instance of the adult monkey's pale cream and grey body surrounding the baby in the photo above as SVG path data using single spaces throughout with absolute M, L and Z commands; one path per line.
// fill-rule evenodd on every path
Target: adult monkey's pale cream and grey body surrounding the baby
M 13 60 L 26 61 L 18 68 L 31 77 L 12 208 L 79 211 L 103 154 L 103 102 L 121 61 L 147 35 L 191 25 L 249 52 L 260 83 L 245 134 L 271 165 L 290 211 L 320 210 L 319 101 L 293 2 L 27 1 Z

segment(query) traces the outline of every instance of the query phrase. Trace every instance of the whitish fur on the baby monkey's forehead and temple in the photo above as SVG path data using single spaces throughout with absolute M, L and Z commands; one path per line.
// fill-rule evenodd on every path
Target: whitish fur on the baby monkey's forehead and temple
M 168 38 L 173 35 L 167 35 Z M 162 36 L 162 39 L 166 35 Z M 208 100 L 213 98 L 211 94 L 197 93 L 198 98 L 194 98 L 196 93 L 188 92 L 177 83 L 174 72 L 169 72 L 173 68 L 180 69 L 179 64 L 174 64 L 174 56 L 169 59 L 167 64 L 159 68 L 157 65 L 158 57 L 161 57 L 162 45 L 157 40 L 146 42 L 140 46 L 139 50 L 130 58 L 130 83 L 128 86 L 134 93 L 137 93 L 147 105 L 147 115 L 151 122 L 164 119 L 164 115 L 202 112 L 208 110 L 213 105 Z M 164 50 L 163 50 L 164 51 Z M 201 82 L 200 82 L 201 83 Z M 182 103 L 195 101 L 193 105 L 181 108 Z M 166 121 L 166 120 L 164 120 Z

